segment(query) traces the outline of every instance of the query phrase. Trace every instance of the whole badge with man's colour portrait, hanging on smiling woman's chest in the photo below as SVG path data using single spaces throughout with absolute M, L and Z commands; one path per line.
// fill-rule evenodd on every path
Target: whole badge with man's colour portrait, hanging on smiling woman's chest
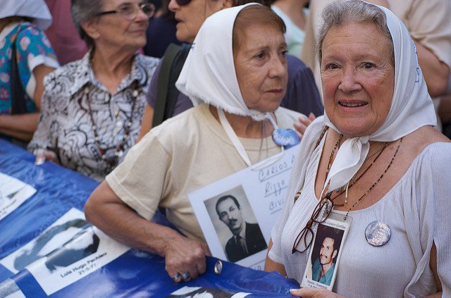
M 335 275 L 340 264 L 340 256 L 352 218 L 331 212 L 316 229 L 313 246 L 310 249 L 302 287 L 332 290 Z

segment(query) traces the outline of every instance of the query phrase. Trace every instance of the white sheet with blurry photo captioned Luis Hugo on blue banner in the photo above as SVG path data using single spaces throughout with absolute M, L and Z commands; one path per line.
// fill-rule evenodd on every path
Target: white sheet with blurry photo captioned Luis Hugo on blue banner
M 34 240 L 0 260 L 12 273 L 27 268 L 46 294 L 67 287 L 128 251 L 70 209 Z

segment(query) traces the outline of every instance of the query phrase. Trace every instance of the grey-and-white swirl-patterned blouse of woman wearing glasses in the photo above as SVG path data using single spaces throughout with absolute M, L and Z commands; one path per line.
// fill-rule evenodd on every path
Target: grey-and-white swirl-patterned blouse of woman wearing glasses
M 34 154 L 39 149 L 54 151 L 62 166 L 103 180 L 140 135 L 146 94 L 158 63 L 158 58 L 137 54 L 131 73 L 113 95 L 95 77 L 90 53 L 54 70 L 44 80 L 41 116 L 28 150 Z M 127 135 L 124 124 L 128 121 Z M 114 159 L 123 139 L 123 155 L 114 164 L 107 162 Z

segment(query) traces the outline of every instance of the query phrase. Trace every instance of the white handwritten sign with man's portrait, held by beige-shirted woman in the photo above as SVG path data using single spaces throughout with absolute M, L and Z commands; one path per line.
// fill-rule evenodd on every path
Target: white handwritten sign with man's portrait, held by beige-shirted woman
M 188 194 L 210 252 L 263 270 L 297 147 Z

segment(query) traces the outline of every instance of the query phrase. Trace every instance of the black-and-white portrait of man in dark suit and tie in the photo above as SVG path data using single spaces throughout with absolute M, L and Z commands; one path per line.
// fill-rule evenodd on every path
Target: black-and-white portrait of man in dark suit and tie
M 228 261 L 240 261 L 268 247 L 241 185 L 204 204 Z

